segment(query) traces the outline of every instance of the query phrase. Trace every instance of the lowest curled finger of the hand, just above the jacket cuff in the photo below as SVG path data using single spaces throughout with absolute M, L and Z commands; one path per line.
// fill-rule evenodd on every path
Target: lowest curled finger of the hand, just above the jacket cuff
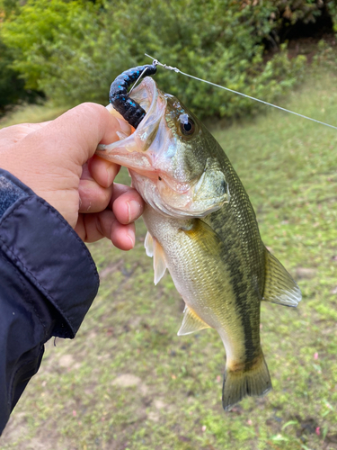
M 96 214 L 80 214 L 75 231 L 84 242 L 109 238 L 112 244 L 121 250 L 130 250 L 136 240 L 135 224 L 122 225 L 110 210 Z

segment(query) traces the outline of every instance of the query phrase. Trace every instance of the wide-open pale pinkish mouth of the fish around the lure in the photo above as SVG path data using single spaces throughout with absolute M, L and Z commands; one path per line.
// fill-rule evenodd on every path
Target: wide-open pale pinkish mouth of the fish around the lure
M 164 132 L 166 99 L 150 76 L 137 85 L 130 98 L 146 111 L 144 119 L 131 135 L 118 131 L 120 140 L 108 145 L 99 144 L 96 154 L 142 175 L 154 177 L 157 169 L 153 166 L 152 152 L 147 150 L 158 133 Z M 107 109 L 111 111 L 111 105 Z

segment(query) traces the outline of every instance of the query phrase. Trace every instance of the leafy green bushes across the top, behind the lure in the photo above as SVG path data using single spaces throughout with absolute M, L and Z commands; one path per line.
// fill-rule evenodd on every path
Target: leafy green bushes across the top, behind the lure
M 311 20 L 323 0 L 28 0 L 3 23 L 13 69 L 58 103 L 107 103 L 121 71 L 150 63 L 144 53 L 236 91 L 274 101 L 303 76 L 305 58 L 263 42 L 288 20 Z M 297 6 L 296 6 L 297 5 Z M 294 15 L 295 14 L 295 15 Z M 310 15 L 311 14 L 311 15 Z M 158 85 L 200 116 L 233 117 L 258 103 L 159 69 Z

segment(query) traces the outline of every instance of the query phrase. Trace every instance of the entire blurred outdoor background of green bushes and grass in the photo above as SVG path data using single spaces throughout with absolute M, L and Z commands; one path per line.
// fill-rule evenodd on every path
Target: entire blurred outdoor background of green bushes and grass
M 113 77 L 146 63 L 145 51 L 336 124 L 334 2 L 0 5 L 0 127 L 107 103 Z M 139 220 L 133 251 L 90 245 L 99 295 L 73 341 L 49 342 L 0 448 L 335 449 L 336 131 L 164 70 L 155 79 L 211 127 L 250 194 L 263 241 L 303 292 L 296 310 L 262 304 L 274 389 L 221 409 L 220 339 L 210 329 L 176 336 L 183 302 L 169 275 L 154 286 Z M 129 183 L 126 172 L 119 177 Z

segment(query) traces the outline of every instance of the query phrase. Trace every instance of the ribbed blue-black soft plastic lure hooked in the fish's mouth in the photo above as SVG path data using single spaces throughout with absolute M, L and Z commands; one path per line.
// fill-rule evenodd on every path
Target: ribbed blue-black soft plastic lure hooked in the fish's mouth
M 146 69 L 146 70 L 145 70 Z M 145 72 L 144 72 L 145 70 Z M 144 74 L 142 74 L 144 72 Z M 109 100 L 112 106 L 120 112 L 126 121 L 134 128 L 137 128 L 140 121 L 143 120 L 146 112 L 134 100 L 129 98 L 128 88 L 137 78 L 143 76 L 154 75 L 156 72 L 155 65 L 146 65 L 129 68 L 112 82 L 109 94 Z

